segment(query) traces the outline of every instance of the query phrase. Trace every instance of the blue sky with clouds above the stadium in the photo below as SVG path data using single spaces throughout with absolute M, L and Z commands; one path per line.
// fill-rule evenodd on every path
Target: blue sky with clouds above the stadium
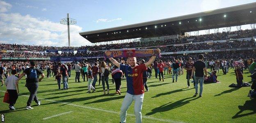
M 92 45 L 79 32 L 154 21 L 256 2 L 256 0 L 0 0 L 0 43 L 68 46 Z

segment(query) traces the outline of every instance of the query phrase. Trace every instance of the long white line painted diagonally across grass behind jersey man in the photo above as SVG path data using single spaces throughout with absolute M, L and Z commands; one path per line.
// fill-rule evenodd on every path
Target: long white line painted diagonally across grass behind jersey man
M 0 90 L 1 91 L 1 90 Z M 1 91 L 1 92 L 5 92 L 5 91 Z M 25 97 L 29 97 L 27 95 L 21 95 L 20 96 L 25 96 Z M 108 112 L 108 113 L 113 113 L 113 114 L 119 114 L 119 112 L 115 112 L 115 111 L 110 111 L 110 110 L 105 110 L 105 109 L 98 109 L 98 108 L 94 108 L 94 107 L 87 107 L 87 106 L 82 106 L 82 105 L 75 105 L 72 103 L 64 103 L 64 102 L 59 102 L 59 101 L 55 101 L 55 100 L 47 100 L 47 99 L 43 99 L 43 98 L 38 98 L 39 100 L 46 100 L 48 102 L 53 102 L 53 103 L 61 103 L 61 104 L 66 104 L 66 105 L 71 105 L 74 107 L 82 107 L 85 109 L 93 109 L 93 110 L 98 110 L 98 111 L 102 111 L 102 112 Z M 135 114 L 127 114 L 128 116 L 135 116 Z M 146 119 L 151 119 L 151 120 L 156 120 L 156 121 L 162 121 L 162 122 L 169 122 L 169 123 L 184 123 L 184 122 L 180 122 L 180 121 L 173 121 L 173 120 L 169 120 L 169 119 L 160 119 L 160 118 L 154 118 L 151 116 L 142 116 L 142 118 L 146 118 Z

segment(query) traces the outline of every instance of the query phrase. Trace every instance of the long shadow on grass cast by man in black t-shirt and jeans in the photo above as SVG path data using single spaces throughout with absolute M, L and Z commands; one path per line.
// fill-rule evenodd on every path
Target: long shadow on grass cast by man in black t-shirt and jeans
M 155 114 L 155 113 L 158 113 L 158 112 L 167 112 L 171 109 L 175 109 L 175 108 L 181 107 L 183 105 L 186 105 L 186 104 L 190 103 L 190 101 L 196 100 L 198 98 L 199 97 L 197 97 L 197 98 L 190 97 L 190 98 L 185 98 L 185 99 L 182 99 L 182 100 L 178 100 L 174 103 L 170 102 L 170 103 L 167 103 L 165 105 L 161 105 L 160 107 L 157 107 L 155 109 L 152 109 L 151 110 L 152 112 L 149 112 L 146 115 L 152 115 L 152 114 Z

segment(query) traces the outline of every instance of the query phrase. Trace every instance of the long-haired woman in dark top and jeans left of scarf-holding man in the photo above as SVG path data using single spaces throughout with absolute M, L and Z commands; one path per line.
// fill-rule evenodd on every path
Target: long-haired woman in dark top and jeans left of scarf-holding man
M 103 93 L 104 95 L 106 94 L 106 90 L 105 90 L 105 82 L 107 84 L 107 94 L 109 94 L 109 84 L 108 84 L 108 75 L 110 74 L 110 68 L 107 66 L 107 64 L 102 61 L 101 62 L 101 80 L 102 80 L 102 87 L 103 87 Z

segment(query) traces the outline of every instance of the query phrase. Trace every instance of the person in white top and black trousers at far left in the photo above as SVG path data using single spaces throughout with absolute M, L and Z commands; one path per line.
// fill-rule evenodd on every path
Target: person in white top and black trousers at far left
M 17 71 L 11 70 L 11 76 L 7 77 L 5 80 L 5 85 L 7 92 L 9 93 L 9 109 L 15 110 L 14 104 L 16 103 L 16 100 L 18 99 L 18 83 L 16 83 L 16 80 L 18 80 L 18 77 L 16 77 Z

